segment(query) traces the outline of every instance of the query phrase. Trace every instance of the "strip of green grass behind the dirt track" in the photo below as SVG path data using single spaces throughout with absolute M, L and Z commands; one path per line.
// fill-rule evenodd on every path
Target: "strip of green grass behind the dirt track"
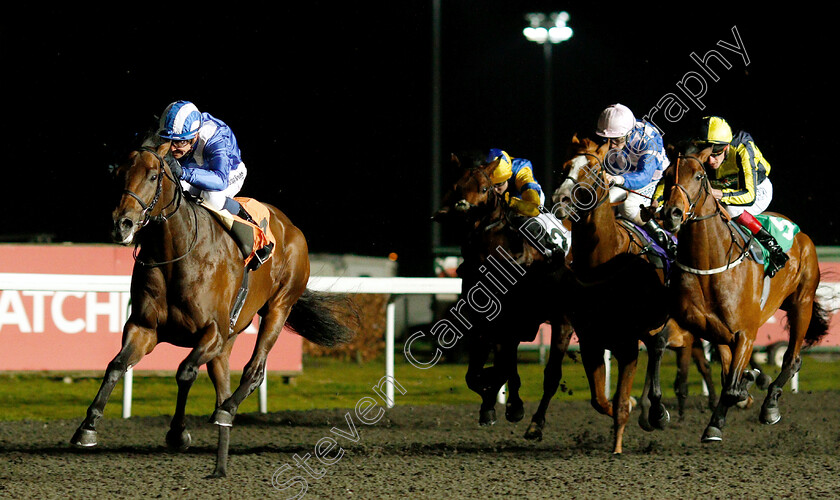
M 519 373 L 522 378 L 522 398 L 536 402 L 542 395 L 543 366 L 536 362 L 536 353 L 520 353 Z M 806 355 L 800 372 L 801 391 L 827 391 L 840 388 L 840 362 L 829 355 Z M 644 381 L 644 367 L 647 357 L 640 354 L 635 378 L 634 395 L 641 392 Z M 617 369 L 612 364 L 613 387 Z M 775 377 L 778 369 L 765 366 L 766 372 Z M 364 397 L 374 395 L 373 386 L 384 375 L 385 364 L 375 362 L 357 364 L 325 358 L 304 358 L 303 373 L 292 383 L 283 378 L 269 375 L 268 411 L 309 410 L 353 407 Z M 466 365 L 438 363 L 421 370 L 409 364 L 404 357 L 396 356 L 395 376 L 405 388 L 404 395 L 397 394 L 399 405 L 430 404 L 475 404 L 479 399 L 465 382 Z M 676 375 L 675 356 L 666 353 L 662 363 L 663 392 L 666 401 L 674 400 L 673 380 Z M 720 365 L 712 364 L 716 386 L 720 387 Z M 88 405 L 93 400 L 101 382 L 102 373 L 63 374 L 0 374 L 0 421 L 7 420 L 51 420 L 60 418 L 84 418 Z M 235 387 L 239 373 L 234 373 Z M 589 388 L 583 367 L 579 361 L 566 359 L 563 363 L 563 390 L 554 398 L 553 404 L 573 399 L 589 399 Z M 789 386 L 786 390 L 789 389 Z M 689 374 L 689 393 L 700 394 L 701 378 L 692 365 Z M 120 418 L 122 413 L 123 384 L 114 390 L 106 408 L 106 418 Z M 135 372 L 133 385 L 133 416 L 171 415 L 175 408 L 177 386 L 174 374 L 161 376 Z M 755 394 L 755 391 L 754 391 Z M 761 398 L 762 396 L 757 396 Z M 209 415 L 215 406 L 213 386 L 205 371 L 190 392 L 187 413 Z M 245 400 L 240 413 L 258 411 L 258 395 L 252 394 Z

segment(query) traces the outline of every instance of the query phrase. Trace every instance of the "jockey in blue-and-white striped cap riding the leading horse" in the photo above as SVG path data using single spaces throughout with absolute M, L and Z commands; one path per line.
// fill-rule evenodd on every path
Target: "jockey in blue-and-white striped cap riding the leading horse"
M 201 198 L 218 212 L 227 212 L 248 222 L 253 218 L 233 199 L 242 189 L 248 170 L 242 162 L 239 145 L 233 131 L 223 121 L 209 113 L 201 113 L 189 101 L 175 101 L 163 111 L 158 136 L 170 141 L 169 166 L 173 175 L 181 180 L 189 194 Z M 231 234 L 240 248 L 245 240 L 253 238 L 249 228 L 234 224 Z M 258 249 L 249 264 L 257 269 L 271 254 L 271 246 Z

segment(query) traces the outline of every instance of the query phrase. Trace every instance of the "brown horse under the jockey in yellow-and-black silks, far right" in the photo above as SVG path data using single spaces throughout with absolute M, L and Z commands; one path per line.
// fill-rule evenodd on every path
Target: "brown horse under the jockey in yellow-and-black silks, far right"
M 661 212 L 663 226 L 679 231 L 673 315 L 694 335 L 717 344 L 721 356 L 723 388 L 704 442 L 720 441 L 729 407 L 749 398 L 754 373 L 747 368 L 755 337 L 776 310 L 787 312 L 790 341 L 761 408 L 760 420 L 766 424 L 781 419 L 779 396 L 799 371 L 803 342 L 819 342 L 828 329 L 826 313 L 816 301 L 820 270 L 814 243 L 797 233 L 788 263 L 772 280 L 765 278 L 762 264 L 745 258 L 747 249 L 734 223 L 711 194 L 703 166 L 710 154 L 711 147 L 689 146 L 666 170 Z M 770 281 L 766 295 L 765 279 Z

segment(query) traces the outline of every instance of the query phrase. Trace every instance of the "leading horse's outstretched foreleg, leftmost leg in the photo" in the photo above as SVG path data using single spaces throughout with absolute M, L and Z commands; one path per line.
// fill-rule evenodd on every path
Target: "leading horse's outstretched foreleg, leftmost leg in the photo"
M 123 329 L 122 349 L 108 363 L 102 385 L 99 386 L 93 403 L 88 407 L 87 417 L 76 429 L 70 443 L 83 448 L 96 446 L 96 423 L 105 412 L 105 405 L 111 397 L 111 392 L 126 370 L 143 359 L 143 356 L 151 352 L 156 344 L 157 337 L 154 330 L 141 328 L 134 323 L 126 323 Z

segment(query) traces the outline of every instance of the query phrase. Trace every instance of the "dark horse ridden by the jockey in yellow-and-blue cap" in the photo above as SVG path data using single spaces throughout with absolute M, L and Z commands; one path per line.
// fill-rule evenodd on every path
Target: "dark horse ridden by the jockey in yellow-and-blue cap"
M 524 404 L 519 396 L 518 346 L 520 342 L 534 340 L 540 325 L 549 322 L 552 335 L 544 370 L 543 396 L 525 434 L 528 439 L 541 439 L 545 414 L 560 386 L 562 361 L 573 333 L 562 308 L 565 302 L 562 282 L 567 271 L 565 257 L 546 259 L 510 220 L 512 209 L 496 193 L 490 180 L 498 160 L 462 166 L 461 159 L 453 154 L 451 161 L 455 168 L 461 169 L 461 175 L 445 194 L 442 208 L 433 219 L 455 225 L 463 238 L 463 263 L 458 268 L 458 275 L 463 280 L 462 289 L 467 291 L 484 282 L 485 288 L 495 294 L 501 305 L 501 314 L 492 320 L 482 318 L 481 314 L 471 314 L 469 321 L 475 325 L 465 336 L 469 355 L 465 378 L 467 386 L 481 396 L 479 424 L 495 422 L 496 396 L 506 382 L 505 417 L 511 422 L 524 417 Z M 507 286 L 505 291 L 491 283 L 493 276 L 488 270 L 494 269 L 494 263 L 504 261 L 501 251 L 515 259 L 523 270 L 524 275 L 516 275 L 515 289 L 504 279 L 500 281 Z M 496 279 L 500 279 L 502 273 L 494 272 L 499 275 Z M 461 307 L 459 314 L 469 312 L 467 309 Z M 493 366 L 485 367 L 491 354 Z

